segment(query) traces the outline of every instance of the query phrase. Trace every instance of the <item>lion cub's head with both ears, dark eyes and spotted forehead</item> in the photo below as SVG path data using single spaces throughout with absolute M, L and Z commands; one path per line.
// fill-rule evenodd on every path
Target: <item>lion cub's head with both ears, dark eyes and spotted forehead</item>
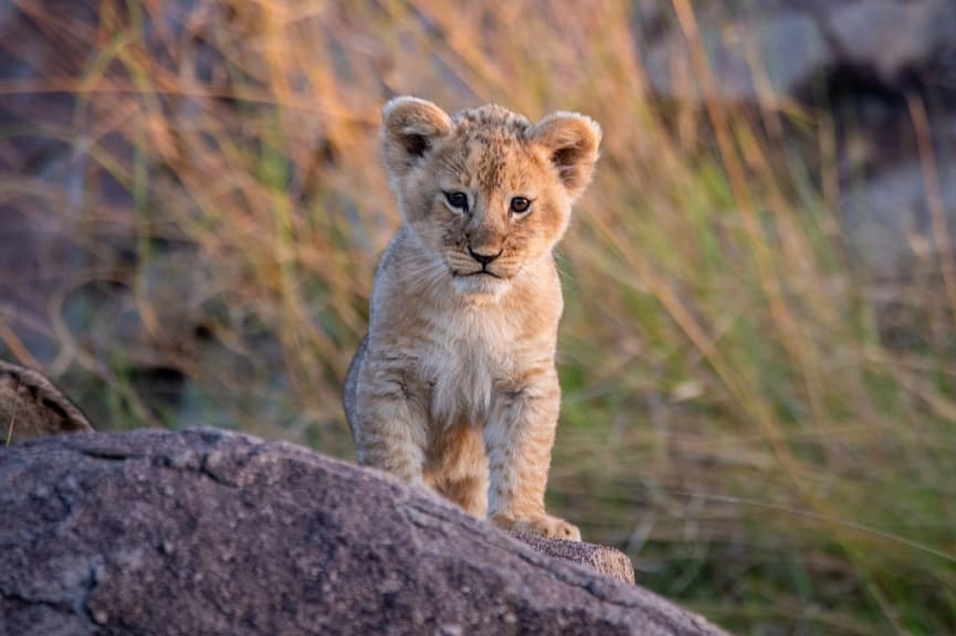
M 449 116 L 414 97 L 382 109 L 382 145 L 406 222 L 433 256 L 429 275 L 500 297 L 568 226 L 601 129 L 574 113 L 532 124 L 501 106 Z

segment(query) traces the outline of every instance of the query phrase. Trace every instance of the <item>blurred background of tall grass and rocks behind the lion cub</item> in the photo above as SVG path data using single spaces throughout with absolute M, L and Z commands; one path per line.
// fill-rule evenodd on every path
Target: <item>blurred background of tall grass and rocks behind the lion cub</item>
M 0 357 L 351 458 L 400 94 L 603 125 L 556 513 L 734 632 L 956 632 L 952 0 L 0 0 Z

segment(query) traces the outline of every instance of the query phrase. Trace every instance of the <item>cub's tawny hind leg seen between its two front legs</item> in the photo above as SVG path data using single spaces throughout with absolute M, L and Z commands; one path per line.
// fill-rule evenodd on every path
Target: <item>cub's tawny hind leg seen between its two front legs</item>
M 465 512 L 484 519 L 488 507 L 488 465 L 479 431 L 462 424 L 445 432 L 430 457 L 432 483 Z

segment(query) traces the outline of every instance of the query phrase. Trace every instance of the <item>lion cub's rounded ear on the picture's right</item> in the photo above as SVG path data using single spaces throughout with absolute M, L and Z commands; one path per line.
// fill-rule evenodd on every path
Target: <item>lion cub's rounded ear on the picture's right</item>
M 547 150 L 568 195 L 576 199 L 595 172 L 601 144 L 600 125 L 577 113 L 555 113 L 532 126 L 529 132 L 530 139 Z

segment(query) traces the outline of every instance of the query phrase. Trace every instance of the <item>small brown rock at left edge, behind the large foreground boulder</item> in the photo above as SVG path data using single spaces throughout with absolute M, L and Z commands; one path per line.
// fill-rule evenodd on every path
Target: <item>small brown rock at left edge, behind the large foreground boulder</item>
M 86 415 L 50 380 L 32 369 L 0 360 L 0 446 L 92 431 Z

